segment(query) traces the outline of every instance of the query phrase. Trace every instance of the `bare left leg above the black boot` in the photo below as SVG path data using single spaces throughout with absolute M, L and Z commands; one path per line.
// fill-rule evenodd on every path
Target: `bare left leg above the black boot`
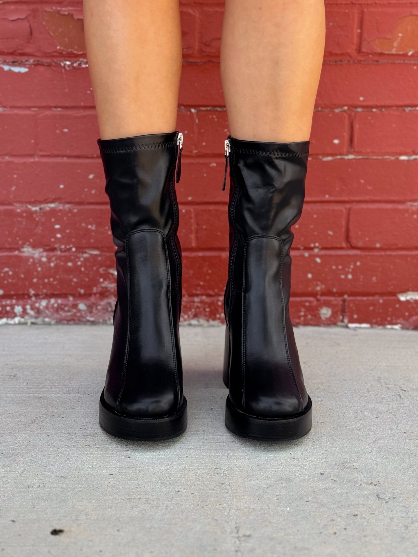
M 101 139 L 174 131 L 178 0 L 84 0 L 84 22 Z

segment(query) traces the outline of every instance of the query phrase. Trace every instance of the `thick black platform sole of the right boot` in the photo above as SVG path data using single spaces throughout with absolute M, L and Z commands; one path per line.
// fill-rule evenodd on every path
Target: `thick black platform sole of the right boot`
M 260 418 L 237 409 L 226 399 L 225 426 L 240 437 L 255 441 L 291 441 L 310 432 L 312 427 L 312 400 L 303 412 L 289 418 Z

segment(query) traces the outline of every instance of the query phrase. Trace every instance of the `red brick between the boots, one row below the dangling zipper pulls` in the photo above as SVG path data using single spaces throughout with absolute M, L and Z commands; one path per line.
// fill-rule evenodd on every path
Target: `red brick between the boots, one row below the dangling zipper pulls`
M 197 246 L 201 249 L 229 248 L 228 208 L 207 206 L 195 209 Z

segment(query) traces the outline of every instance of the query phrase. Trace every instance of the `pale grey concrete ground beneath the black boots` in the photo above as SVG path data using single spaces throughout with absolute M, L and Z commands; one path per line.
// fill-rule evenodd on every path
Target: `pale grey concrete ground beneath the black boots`
M 295 333 L 307 437 L 229 433 L 223 328 L 183 327 L 187 432 L 135 443 L 98 424 L 111 326 L 2 326 L 0 554 L 416 556 L 418 333 Z

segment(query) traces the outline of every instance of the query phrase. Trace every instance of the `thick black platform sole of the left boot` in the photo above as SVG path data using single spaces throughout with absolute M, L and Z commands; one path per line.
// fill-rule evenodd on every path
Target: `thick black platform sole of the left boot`
M 131 441 L 166 441 L 178 437 L 187 427 L 187 400 L 183 398 L 181 408 L 174 414 L 161 418 L 128 417 L 118 414 L 100 395 L 99 424 L 101 429 L 113 437 Z

